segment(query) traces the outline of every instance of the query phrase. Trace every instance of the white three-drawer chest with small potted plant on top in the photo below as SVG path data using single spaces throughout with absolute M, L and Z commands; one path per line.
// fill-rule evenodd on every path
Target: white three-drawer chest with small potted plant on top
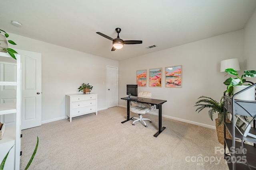
M 66 119 L 89 113 L 97 115 L 97 94 L 66 94 Z

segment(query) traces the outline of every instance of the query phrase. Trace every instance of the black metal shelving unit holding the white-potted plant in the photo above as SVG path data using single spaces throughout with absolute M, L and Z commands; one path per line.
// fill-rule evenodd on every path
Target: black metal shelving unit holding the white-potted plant
M 248 88 L 234 94 L 232 97 L 224 94 L 224 115 L 226 115 L 226 110 L 232 114 L 231 123 L 224 120 L 224 158 L 230 170 L 256 170 L 256 138 L 248 135 L 245 137 L 235 127 L 236 115 L 252 117 L 250 124 L 253 125 L 249 133 L 256 135 L 256 101 L 235 99 L 238 94 L 249 88 L 255 88 L 255 86 L 256 84 L 252 84 L 252 86 L 248 86 Z M 226 129 L 232 136 L 232 140 L 226 139 Z M 254 145 L 246 144 L 245 141 L 254 143 Z M 226 151 L 226 148 L 228 151 Z

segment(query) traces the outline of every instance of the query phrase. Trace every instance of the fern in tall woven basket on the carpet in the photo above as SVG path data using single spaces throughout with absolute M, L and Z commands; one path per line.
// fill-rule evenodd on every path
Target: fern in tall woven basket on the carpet
M 200 96 L 198 98 L 199 100 L 196 102 L 196 105 L 195 105 L 197 107 L 196 111 L 198 111 L 198 113 L 205 108 L 209 108 L 210 110 L 208 111 L 208 115 L 212 121 L 213 121 L 214 113 L 218 113 L 218 118 L 215 119 L 215 125 L 216 125 L 218 141 L 222 145 L 224 145 L 224 117 L 226 117 L 226 122 L 230 122 L 229 113 L 227 110 L 226 110 L 226 115 L 224 116 L 223 98 L 224 97 L 222 96 L 219 103 L 210 97 Z M 226 129 L 226 138 L 232 139 L 227 129 Z

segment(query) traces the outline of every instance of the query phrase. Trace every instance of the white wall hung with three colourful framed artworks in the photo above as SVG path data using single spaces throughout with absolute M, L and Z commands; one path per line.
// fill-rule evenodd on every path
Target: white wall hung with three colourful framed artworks
M 243 36 L 243 30 L 234 31 L 120 61 L 119 98 L 126 96 L 126 84 L 136 84 L 136 70 L 147 69 L 149 74 L 150 68 L 162 67 L 164 75 L 165 67 L 182 65 L 182 88 L 166 88 L 164 84 L 148 87 L 147 84 L 147 87 L 138 87 L 138 91 L 150 91 L 152 98 L 167 100 L 162 106 L 165 117 L 214 128 L 215 121 L 208 117 L 208 110 L 197 113 L 194 105 L 200 96 L 220 101 L 226 89 L 223 84 L 226 74 L 220 72 L 220 61 L 238 58 L 243 66 Z M 164 76 L 162 78 L 164 82 Z M 119 99 L 119 104 L 126 107 L 124 100 Z

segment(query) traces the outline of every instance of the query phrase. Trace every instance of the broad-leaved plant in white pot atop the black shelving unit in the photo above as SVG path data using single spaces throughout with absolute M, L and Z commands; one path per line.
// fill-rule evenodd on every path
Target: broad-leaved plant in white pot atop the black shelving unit
M 241 76 L 238 76 L 236 70 L 234 70 L 233 68 L 227 68 L 225 72 L 236 76 L 236 78 L 230 77 L 224 82 L 224 84 L 227 85 L 227 90 L 224 93 L 228 93 L 228 96 L 233 96 L 233 94 L 236 94 L 237 92 L 240 92 L 241 90 L 244 90 L 251 85 L 246 83 L 246 79 L 244 79 L 244 77 L 256 77 L 255 70 L 245 70 L 244 74 L 242 74 Z M 250 88 L 242 92 L 241 94 L 238 94 L 235 99 L 255 100 L 255 88 Z

